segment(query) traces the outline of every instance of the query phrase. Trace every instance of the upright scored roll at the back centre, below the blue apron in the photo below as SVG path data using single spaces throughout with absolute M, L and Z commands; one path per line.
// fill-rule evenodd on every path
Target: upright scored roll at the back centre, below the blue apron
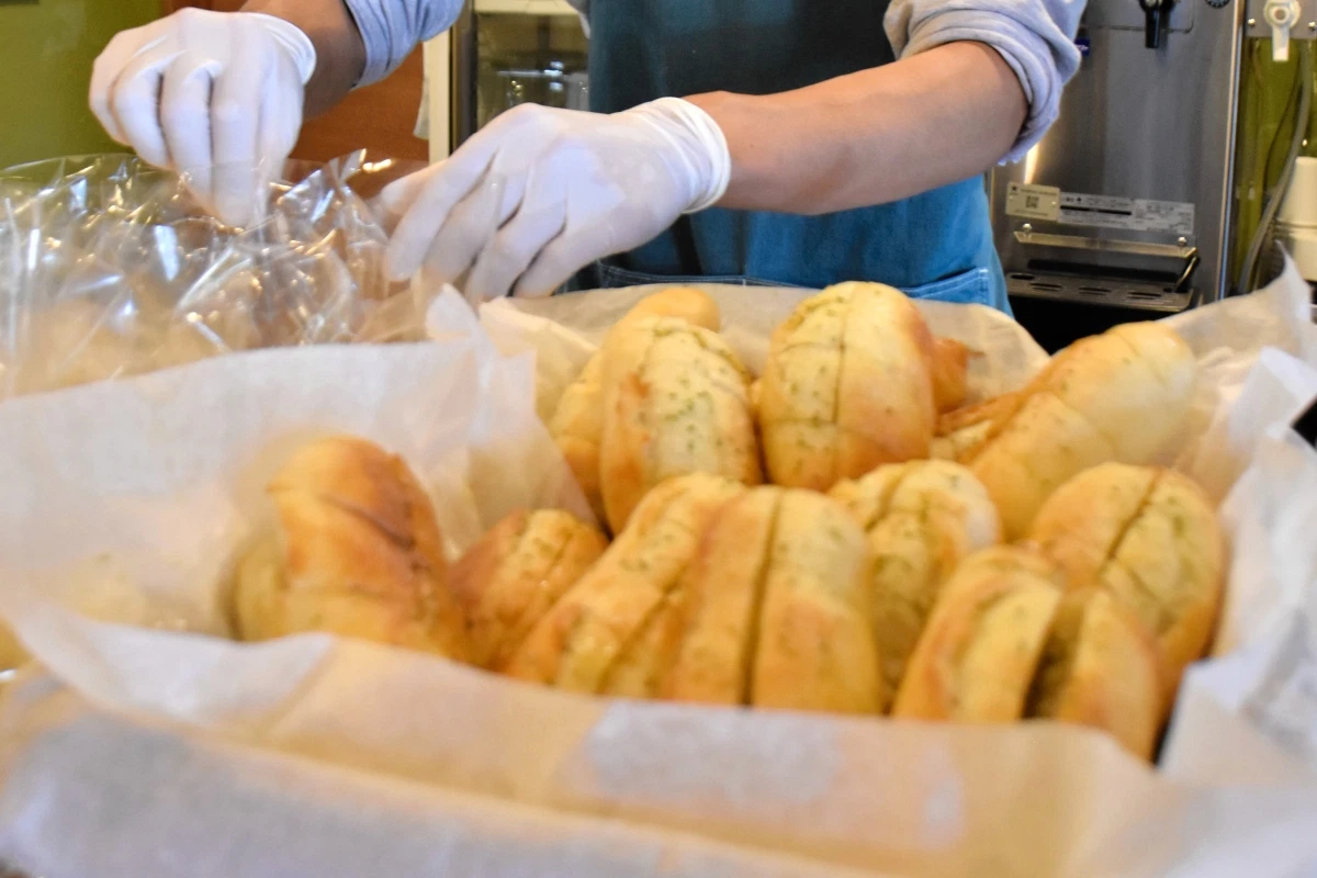
M 760 428 L 770 480 L 826 491 L 928 455 L 934 341 L 903 294 L 843 283 L 810 296 L 769 344 Z

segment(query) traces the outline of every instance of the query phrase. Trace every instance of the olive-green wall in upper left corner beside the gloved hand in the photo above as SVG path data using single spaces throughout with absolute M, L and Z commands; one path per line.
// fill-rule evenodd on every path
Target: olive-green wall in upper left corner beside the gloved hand
M 116 149 L 87 109 L 91 65 L 161 0 L 0 3 L 0 167 Z

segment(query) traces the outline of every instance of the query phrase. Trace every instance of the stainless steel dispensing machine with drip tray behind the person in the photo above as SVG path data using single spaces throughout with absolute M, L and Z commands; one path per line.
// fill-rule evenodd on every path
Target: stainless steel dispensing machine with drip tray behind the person
M 1317 0 L 1088 0 L 1060 120 L 989 179 L 1011 301 L 1044 346 L 1235 291 L 1250 37 L 1287 54 L 1317 37 Z

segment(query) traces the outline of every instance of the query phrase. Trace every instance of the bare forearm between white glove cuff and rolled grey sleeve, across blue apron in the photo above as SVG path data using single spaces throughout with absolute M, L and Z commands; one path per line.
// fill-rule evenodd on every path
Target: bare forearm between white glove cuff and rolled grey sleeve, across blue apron
M 1029 109 L 1001 55 L 972 42 L 778 95 L 687 100 L 727 137 L 732 176 L 719 205 L 788 213 L 897 201 L 982 174 Z

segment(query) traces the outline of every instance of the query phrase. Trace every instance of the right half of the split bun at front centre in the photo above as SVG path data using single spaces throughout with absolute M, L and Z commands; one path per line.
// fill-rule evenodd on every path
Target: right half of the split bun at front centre
M 876 713 L 885 700 L 869 621 L 872 558 L 836 502 L 782 491 L 765 559 L 749 703 Z

